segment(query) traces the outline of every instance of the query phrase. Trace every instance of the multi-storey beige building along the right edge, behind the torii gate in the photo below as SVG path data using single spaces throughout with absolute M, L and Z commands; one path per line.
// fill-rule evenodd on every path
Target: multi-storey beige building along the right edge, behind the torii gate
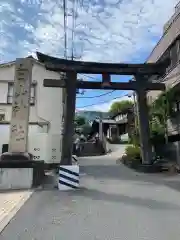
M 164 32 L 147 59 L 148 63 L 159 62 L 169 59 L 166 74 L 158 78 L 158 82 L 163 82 L 166 89 L 174 88 L 176 97 L 174 99 L 174 116 L 167 121 L 168 136 L 176 139 L 176 142 L 169 144 L 169 147 L 176 152 L 174 155 L 180 162 L 180 3 L 177 4 L 173 16 L 164 25 Z M 149 91 L 148 102 L 152 103 L 157 99 L 160 91 Z

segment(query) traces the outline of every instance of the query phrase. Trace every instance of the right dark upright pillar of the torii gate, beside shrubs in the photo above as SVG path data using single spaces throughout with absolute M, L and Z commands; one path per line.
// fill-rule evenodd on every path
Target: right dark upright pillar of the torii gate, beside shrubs
M 146 99 L 146 91 L 141 87 L 139 87 L 139 89 L 137 90 L 137 107 L 142 163 L 151 164 L 152 147 L 150 143 L 148 106 Z

